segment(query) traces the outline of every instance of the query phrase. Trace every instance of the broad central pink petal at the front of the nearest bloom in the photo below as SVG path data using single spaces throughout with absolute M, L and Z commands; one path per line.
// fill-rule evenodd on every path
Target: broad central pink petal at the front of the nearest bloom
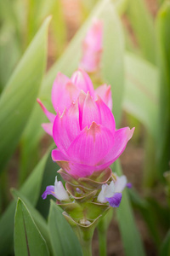
M 74 162 L 95 166 L 111 150 L 113 143 L 111 131 L 93 122 L 89 129 L 86 127 L 82 130 L 71 143 L 67 155 Z

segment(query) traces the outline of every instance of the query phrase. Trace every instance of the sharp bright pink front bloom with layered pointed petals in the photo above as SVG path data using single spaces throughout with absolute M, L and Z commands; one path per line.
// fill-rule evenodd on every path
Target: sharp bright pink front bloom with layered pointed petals
M 116 130 L 115 119 L 100 97 L 94 101 L 81 91 L 77 101 L 58 113 L 53 126 L 57 149 L 52 159 L 73 177 L 87 177 L 105 170 L 126 148 L 133 136 L 128 127 Z

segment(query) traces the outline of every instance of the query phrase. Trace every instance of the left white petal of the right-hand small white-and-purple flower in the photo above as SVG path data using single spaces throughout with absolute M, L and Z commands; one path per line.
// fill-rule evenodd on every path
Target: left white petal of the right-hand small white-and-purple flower
M 99 202 L 106 202 L 107 200 L 105 197 L 112 197 L 115 194 L 115 184 L 112 181 L 109 185 L 108 184 L 103 184 L 101 187 L 101 191 L 99 192 L 98 195 L 98 201 Z

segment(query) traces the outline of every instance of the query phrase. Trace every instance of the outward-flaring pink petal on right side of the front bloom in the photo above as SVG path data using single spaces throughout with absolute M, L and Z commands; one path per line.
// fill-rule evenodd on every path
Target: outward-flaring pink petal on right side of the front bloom
M 113 147 L 111 148 L 110 152 L 105 155 L 104 159 L 99 161 L 98 165 L 101 165 L 101 168 L 106 168 L 107 166 L 110 166 L 114 161 L 116 161 L 116 159 L 122 154 L 122 152 L 126 148 L 127 142 L 133 136 L 133 131 L 134 128 L 130 130 L 129 127 L 124 127 L 115 131 L 115 141 Z

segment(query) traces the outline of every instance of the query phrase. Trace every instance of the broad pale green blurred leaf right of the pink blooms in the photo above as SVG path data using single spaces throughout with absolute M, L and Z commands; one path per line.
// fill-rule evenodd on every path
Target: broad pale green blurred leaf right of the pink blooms
M 157 140 L 158 71 L 139 57 L 125 56 L 125 95 L 123 108 L 131 113 Z

